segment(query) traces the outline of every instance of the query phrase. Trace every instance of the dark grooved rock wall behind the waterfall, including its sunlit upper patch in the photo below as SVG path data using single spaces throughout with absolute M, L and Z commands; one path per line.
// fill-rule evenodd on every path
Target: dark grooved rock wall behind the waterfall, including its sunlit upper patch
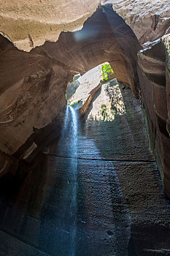
M 102 86 L 76 157 L 69 135 L 21 166 L 20 184 L 1 181 L 0 256 L 170 255 L 169 201 L 131 91 Z

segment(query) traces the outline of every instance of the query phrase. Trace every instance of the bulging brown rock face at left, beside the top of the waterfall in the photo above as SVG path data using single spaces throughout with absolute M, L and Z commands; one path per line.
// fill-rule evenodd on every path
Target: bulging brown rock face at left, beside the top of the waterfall
M 66 71 L 62 67 L 56 68 L 47 56 L 20 51 L 1 37 L 3 48 L 0 148 L 11 155 L 35 132 L 34 128 L 41 129 L 50 124 L 63 109 Z M 61 75 L 56 78 L 58 72 Z

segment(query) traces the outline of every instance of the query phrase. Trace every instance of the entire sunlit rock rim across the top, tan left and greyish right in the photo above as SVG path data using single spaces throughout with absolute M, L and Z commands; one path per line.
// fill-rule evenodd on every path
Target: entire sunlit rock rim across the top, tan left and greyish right
M 61 31 L 75 31 L 98 4 L 112 3 L 131 26 L 139 42 L 152 42 L 169 33 L 169 0 L 0 1 L 0 31 L 22 50 L 31 50 L 46 40 L 57 41 Z

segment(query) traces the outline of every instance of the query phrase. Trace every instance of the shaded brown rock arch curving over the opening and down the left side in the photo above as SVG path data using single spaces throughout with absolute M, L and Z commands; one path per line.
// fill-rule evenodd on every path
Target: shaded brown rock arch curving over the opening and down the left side
M 98 8 L 82 30 L 62 33 L 58 42 L 45 42 L 30 53 L 2 36 L 0 47 L 0 149 L 7 154 L 14 154 L 37 129 L 50 124 L 66 105 L 66 85 L 76 73 L 109 61 L 117 80 L 132 91 L 138 83 L 139 43 L 112 7 Z

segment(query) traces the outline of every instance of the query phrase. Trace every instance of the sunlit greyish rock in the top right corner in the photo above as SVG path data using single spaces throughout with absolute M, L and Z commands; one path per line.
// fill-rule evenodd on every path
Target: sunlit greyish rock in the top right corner
M 105 0 L 131 26 L 141 44 L 170 33 L 169 0 Z

